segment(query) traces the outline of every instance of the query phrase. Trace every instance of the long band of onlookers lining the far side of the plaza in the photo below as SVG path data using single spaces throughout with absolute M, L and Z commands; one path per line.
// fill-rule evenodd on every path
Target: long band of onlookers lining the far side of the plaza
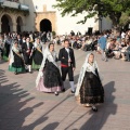
M 104 53 L 107 58 L 114 57 L 115 60 L 130 61 L 130 30 L 117 32 L 116 35 L 112 30 L 106 30 L 103 34 L 94 32 L 92 35 L 80 31 L 75 34 L 73 30 L 69 35 L 53 36 L 51 31 L 48 32 L 9 32 L 0 35 L 0 53 L 3 54 L 4 44 L 11 44 L 13 39 L 17 39 L 20 44 L 25 42 L 26 37 L 30 37 L 30 42 L 35 42 L 37 37 L 40 38 L 42 43 L 51 41 L 57 46 L 64 43 L 64 39 L 69 39 L 70 47 L 76 50 L 82 51 L 96 51 L 98 53 Z M 102 38 L 106 39 L 104 43 L 105 48 L 100 47 Z M 10 48 L 6 47 L 8 50 Z M 8 55 L 8 54 L 6 54 Z

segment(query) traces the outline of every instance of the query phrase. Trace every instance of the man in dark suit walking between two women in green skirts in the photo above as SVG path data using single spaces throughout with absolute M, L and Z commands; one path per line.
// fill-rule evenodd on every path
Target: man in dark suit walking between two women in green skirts
M 26 70 L 28 69 L 31 73 L 31 64 L 32 64 L 32 43 L 30 42 L 30 38 L 26 38 L 26 42 L 22 44 L 22 52 L 24 55 L 25 64 L 27 65 Z

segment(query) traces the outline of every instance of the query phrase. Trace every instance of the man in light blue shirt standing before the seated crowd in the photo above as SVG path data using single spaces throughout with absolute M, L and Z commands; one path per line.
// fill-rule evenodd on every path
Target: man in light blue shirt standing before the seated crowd
M 104 34 L 101 34 L 101 38 L 99 39 L 98 43 L 99 43 L 99 47 L 101 49 L 101 53 L 102 53 L 102 60 L 107 62 L 107 57 L 106 57 L 106 54 L 105 54 L 105 49 L 106 49 L 106 37 L 104 36 Z

